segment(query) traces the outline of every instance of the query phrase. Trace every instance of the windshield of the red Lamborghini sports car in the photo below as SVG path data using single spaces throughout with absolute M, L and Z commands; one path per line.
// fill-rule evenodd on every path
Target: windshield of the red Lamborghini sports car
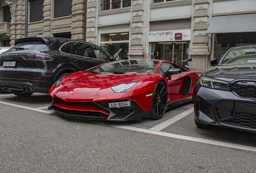
M 91 68 L 90 71 L 114 73 L 153 73 L 158 62 L 159 61 L 155 60 L 121 60 Z

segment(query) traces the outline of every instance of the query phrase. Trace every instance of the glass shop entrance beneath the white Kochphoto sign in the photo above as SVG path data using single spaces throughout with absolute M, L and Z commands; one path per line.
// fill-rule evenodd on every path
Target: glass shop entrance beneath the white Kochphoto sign
M 151 44 L 151 59 L 167 60 L 179 64 L 188 59 L 188 42 L 155 42 Z

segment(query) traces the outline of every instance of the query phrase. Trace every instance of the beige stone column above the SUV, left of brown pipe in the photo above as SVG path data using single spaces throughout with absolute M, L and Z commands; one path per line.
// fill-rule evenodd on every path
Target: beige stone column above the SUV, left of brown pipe
M 72 39 L 84 40 L 85 28 L 85 0 L 72 1 Z

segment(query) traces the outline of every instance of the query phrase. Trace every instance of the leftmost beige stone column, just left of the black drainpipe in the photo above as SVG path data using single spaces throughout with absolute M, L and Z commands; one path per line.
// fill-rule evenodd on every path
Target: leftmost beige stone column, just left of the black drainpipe
M 25 37 L 25 0 L 8 0 L 6 3 L 11 12 L 10 44 L 14 46 L 16 39 Z

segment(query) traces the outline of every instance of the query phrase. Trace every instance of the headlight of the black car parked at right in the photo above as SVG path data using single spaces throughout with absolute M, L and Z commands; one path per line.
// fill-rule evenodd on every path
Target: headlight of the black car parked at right
M 214 78 L 201 77 L 199 79 L 199 85 L 202 87 L 207 87 L 207 88 L 211 88 L 211 89 L 230 91 L 229 82 L 217 80 Z

